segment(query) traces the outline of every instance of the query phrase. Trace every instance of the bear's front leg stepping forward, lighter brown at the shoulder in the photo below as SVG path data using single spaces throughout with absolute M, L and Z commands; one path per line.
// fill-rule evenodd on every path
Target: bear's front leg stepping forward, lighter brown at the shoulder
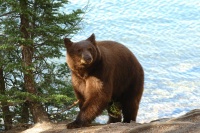
M 107 107 L 110 96 L 101 82 L 86 82 L 84 102 L 74 122 L 67 125 L 68 129 L 88 126 Z

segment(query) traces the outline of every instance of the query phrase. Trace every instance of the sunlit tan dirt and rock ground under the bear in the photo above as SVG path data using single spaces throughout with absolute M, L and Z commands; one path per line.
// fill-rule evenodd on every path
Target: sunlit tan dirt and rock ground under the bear
M 66 129 L 66 123 L 38 123 L 29 129 L 26 128 L 16 127 L 5 133 L 200 133 L 200 109 L 190 111 L 177 118 L 159 119 L 144 124 L 112 123 Z

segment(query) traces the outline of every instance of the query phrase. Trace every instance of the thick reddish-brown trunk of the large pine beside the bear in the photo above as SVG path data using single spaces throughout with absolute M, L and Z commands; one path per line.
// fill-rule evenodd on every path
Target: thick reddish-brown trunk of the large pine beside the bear
M 34 73 L 31 69 L 34 54 L 33 43 L 27 43 L 27 40 L 30 40 L 31 38 L 30 33 L 27 31 L 29 28 L 29 15 L 27 15 L 28 13 L 26 12 L 28 9 L 27 0 L 20 0 L 20 6 L 23 10 L 20 14 L 20 31 L 22 33 L 22 38 L 25 40 L 25 42 L 21 42 L 25 89 L 27 92 L 36 95 L 37 90 L 35 88 Z M 49 121 L 47 112 L 41 103 L 29 100 L 29 108 L 32 113 L 34 123 Z

